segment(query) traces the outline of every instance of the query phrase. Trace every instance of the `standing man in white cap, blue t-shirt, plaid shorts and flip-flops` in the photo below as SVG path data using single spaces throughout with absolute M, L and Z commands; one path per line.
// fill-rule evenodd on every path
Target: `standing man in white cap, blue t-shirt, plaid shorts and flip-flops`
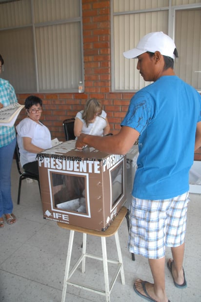
M 81 134 L 76 147 L 126 154 L 139 138 L 138 169 L 130 205 L 128 246 L 148 258 L 154 283 L 137 279 L 136 293 L 149 301 L 168 302 L 165 292 L 165 247 L 175 286 L 186 287 L 183 270 L 189 170 L 201 147 L 201 95 L 174 73 L 178 56 L 174 41 L 162 32 L 145 35 L 136 48 L 123 53 L 137 58 L 145 81 L 131 99 L 118 134 Z

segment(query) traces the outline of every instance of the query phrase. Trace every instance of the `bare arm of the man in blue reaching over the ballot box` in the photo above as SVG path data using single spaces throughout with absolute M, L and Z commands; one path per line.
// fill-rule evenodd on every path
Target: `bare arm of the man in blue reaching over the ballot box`
M 118 134 L 109 136 L 81 133 L 76 142 L 76 148 L 81 150 L 83 146 L 88 145 L 110 154 L 126 154 L 138 139 L 139 135 L 140 133 L 137 130 L 127 126 L 121 127 Z

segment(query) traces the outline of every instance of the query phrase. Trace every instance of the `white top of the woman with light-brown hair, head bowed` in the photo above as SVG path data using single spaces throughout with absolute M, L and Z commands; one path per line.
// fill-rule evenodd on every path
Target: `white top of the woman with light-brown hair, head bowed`
M 83 110 L 76 114 L 76 118 L 79 118 L 83 123 L 81 132 L 85 134 L 103 136 L 104 128 L 107 126 L 107 122 L 105 120 L 107 116 L 106 112 L 102 110 L 101 115 L 97 115 L 94 123 L 89 123 L 88 127 L 86 127 L 85 121 L 82 119 L 82 113 Z

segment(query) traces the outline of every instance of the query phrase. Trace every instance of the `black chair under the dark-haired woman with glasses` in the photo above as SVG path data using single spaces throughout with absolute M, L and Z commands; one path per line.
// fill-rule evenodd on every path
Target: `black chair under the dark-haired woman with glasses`
M 37 180 L 38 183 L 39 183 L 39 190 L 40 190 L 40 181 L 39 181 L 39 175 L 32 174 L 32 173 L 27 172 L 27 171 L 21 171 L 21 168 L 20 168 L 20 153 L 19 153 L 18 143 L 16 143 L 16 147 L 15 147 L 15 159 L 16 159 L 18 172 L 20 174 L 19 188 L 18 188 L 18 204 L 20 204 L 20 193 L 21 193 L 21 182 L 22 182 L 22 180 L 26 179 L 26 178 L 31 178 L 33 180 Z

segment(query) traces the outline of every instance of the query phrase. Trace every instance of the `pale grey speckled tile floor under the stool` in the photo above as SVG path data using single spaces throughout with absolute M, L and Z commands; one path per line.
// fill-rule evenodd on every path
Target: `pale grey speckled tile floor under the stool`
M 38 183 L 22 182 L 20 205 L 17 205 L 17 169 L 13 162 L 12 196 L 15 225 L 0 230 L 0 302 L 60 302 L 69 231 L 61 229 L 54 221 L 44 220 Z M 174 286 L 167 268 L 166 289 L 171 302 L 201 302 L 201 195 L 191 194 L 188 207 L 188 225 L 184 269 L 188 286 L 178 289 Z M 111 302 L 142 302 L 133 290 L 133 281 L 140 277 L 152 281 L 147 259 L 136 256 L 132 261 L 127 250 L 127 225 L 124 219 L 120 230 L 121 251 L 124 263 L 125 285 L 120 276 L 111 292 Z M 100 255 L 101 240 L 89 237 L 87 251 Z M 73 259 L 81 252 L 81 235 L 76 233 Z M 112 258 L 113 237 L 107 239 L 108 257 Z M 115 249 L 116 251 L 116 249 Z M 80 255 L 80 254 L 79 254 Z M 114 255 L 113 255 L 114 257 Z M 116 256 L 115 256 L 116 257 Z M 171 257 L 167 249 L 166 258 Z M 112 265 L 109 272 L 113 271 Z M 87 259 L 86 273 L 79 271 L 75 278 L 88 280 L 102 288 L 101 261 Z M 67 286 L 66 302 L 104 302 L 103 296 Z

